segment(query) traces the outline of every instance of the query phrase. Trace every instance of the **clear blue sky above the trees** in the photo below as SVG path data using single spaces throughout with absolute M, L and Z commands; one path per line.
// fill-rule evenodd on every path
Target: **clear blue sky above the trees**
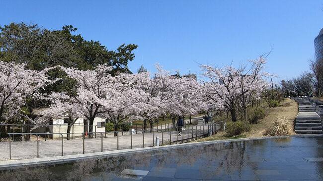
M 279 81 L 309 70 L 322 8 L 321 0 L 6 0 L 0 25 L 73 25 L 108 50 L 137 44 L 133 72 L 142 62 L 154 71 L 159 62 L 198 78 L 199 63 L 239 65 L 272 49 L 267 71 Z

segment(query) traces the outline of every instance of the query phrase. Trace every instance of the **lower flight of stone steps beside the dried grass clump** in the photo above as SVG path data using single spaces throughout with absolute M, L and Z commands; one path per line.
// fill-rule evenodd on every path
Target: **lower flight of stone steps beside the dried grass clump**
M 295 120 L 298 134 L 322 134 L 321 117 L 316 112 L 299 112 Z

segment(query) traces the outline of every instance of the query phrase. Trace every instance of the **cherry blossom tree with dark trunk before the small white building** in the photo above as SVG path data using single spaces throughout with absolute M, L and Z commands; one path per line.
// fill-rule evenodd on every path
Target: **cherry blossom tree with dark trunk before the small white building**
M 60 66 L 68 77 L 76 81 L 76 86 L 71 92 L 52 93 L 48 97 L 60 100 L 55 106 L 62 106 L 61 110 L 72 109 L 73 115 L 84 119 L 84 124 L 88 125 L 88 132 L 93 131 L 94 118 L 106 113 L 106 107 L 113 104 L 110 99 L 110 92 L 114 92 L 112 82 L 115 78 L 109 74 L 111 67 L 98 65 L 94 70 L 78 70 Z M 72 104 L 72 107 L 66 104 Z M 55 107 L 54 106 L 54 107 Z M 89 133 L 89 138 L 93 137 Z

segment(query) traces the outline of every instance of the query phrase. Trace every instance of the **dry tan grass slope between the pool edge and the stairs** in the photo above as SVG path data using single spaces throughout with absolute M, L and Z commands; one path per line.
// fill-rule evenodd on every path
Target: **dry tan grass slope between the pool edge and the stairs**
M 216 134 L 205 137 L 202 139 L 194 140 L 193 142 L 200 141 L 213 141 L 213 140 L 223 140 L 223 139 L 238 139 L 238 138 L 255 138 L 255 137 L 266 137 L 263 135 L 266 128 L 269 127 L 278 117 L 287 118 L 288 121 L 294 122 L 298 114 L 298 105 L 297 102 L 293 101 L 290 98 L 286 98 L 285 103 L 290 103 L 289 106 L 279 106 L 276 108 L 271 108 L 269 115 L 261 120 L 258 120 L 257 124 L 251 124 L 252 128 L 249 132 L 242 133 L 238 136 L 228 136 L 224 130 L 218 131 Z M 231 122 L 231 117 L 222 116 L 216 119 L 217 121 L 226 121 Z

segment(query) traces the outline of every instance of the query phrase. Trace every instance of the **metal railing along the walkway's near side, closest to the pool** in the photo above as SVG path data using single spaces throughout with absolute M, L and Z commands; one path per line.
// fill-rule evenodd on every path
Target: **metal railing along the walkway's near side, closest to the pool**
M 212 134 L 215 134 L 218 130 L 222 129 L 223 127 L 223 122 L 220 121 L 220 122 L 217 122 L 217 123 L 208 123 L 208 124 L 204 124 L 204 125 L 195 125 L 195 126 L 190 126 L 190 128 L 188 126 L 183 126 L 184 128 L 187 128 L 185 130 L 183 130 L 183 134 L 182 134 L 182 139 L 178 139 L 178 133 L 176 131 L 176 140 L 172 139 L 171 136 L 172 136 L 172 133 L 173 131 L 169 131 L 167 130 L 167 128 L 164 128 L 164 129 L 153 129 L 153 131 L 151 132 L 153 134 L 153 144 L 152 145 L 148 145 L 148 146 L 155 146 L 155 133 L 156 132 L 161 132 L 161 144 L 163 145 L 164 143 L 165 144 L 178 144 L 178 143 L 184 143 L 184 142 L 189 142 L 190 140 L 194 140 L 194 139 L 199 139 L 199 138 L 203 138 L 205 136 L 208 136 L 208 135 L 212 135 Z M 202 130 L 201 130 L 201 127 L 202 127 Z M 205 127 L 205 130 L 204 130 L 204 127 Z M 202 132 L 201 132 L 202 131 Z M 117 141 L 116 141 L 116 150 L 119 150 L 119 132 L 120 131 L 110 131 L 112 133 L 117 133 L 116 137 L 117 137 Z M 77 132 L 79 134 L 82 134 L 82 153 L 84 154 L 85 153 L 85 135 L 86 134 L 89 134 L 89 133 L 98 133 L 101 135 L 101 152 L 103 152 L 103 134 L 106 133 L 106 132 Z M 169 142 L 164 142 L 164 134 L 169 134 Z M 187 137 L 184 137 L 184 133 L 187 133 Z M 8 133 L 9 135 L 9 159 L 11 160 L 11 136 L 13 137 L 14 135 L 19 135 L 21 133 Z M 64 155 L 64 134 L 73 134 L 73 133 L 24 133 L 24 134 L 28 134 L 28 135 L 36 135 L 37 136 L 37 158 L 39 158 L 39 136 L 40 135 L 45 135 L 45 137 L 47 137 L 47 135 L 51 134 L 59 134 L 60 137 L 62 137 L 62 139 L 60 139 L 62 142 L 61 142 L 61 155 L 63 156 Z M 130 130 L 129 131 L 129 134 L 131 135 L 130 136 L 130 148 L 132 149 L 133 148 L 133 134 L 135 134 L 135 131 L 134 130 Z M 142 144 L 142 147 L 144 148 L 145 146 L 145 132 L 142 133 L 143 137 L 142 137 L 142 140 L 143 140 L 143 144 Z M 191 136 L 190 136 L 191 135 Z M 151 136 L 151 135 L 150 135 Z M 147 138 L 147 136 L 146 136 Z M 148 138 L 149 139 L 149 138 Z M 166 139 L 168 140 L 168 139 Z M 165 140 L 165 141 L 166 141 Z

